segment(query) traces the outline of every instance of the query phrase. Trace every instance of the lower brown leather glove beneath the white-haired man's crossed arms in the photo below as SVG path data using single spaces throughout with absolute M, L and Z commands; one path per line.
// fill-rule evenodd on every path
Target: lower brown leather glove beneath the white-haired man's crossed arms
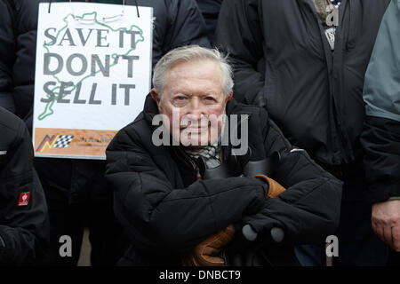
M 232 240 L 235 233 L 233 225 L 228 225 L 219 233 L 205 239 L 182 257 L 183 266 L 223 266 L 225 260 L 220 256 L 224 248 Z

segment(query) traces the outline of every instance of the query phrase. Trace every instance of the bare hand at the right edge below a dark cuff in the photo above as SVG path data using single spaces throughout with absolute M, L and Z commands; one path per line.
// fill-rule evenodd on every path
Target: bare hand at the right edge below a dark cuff
M 372 229 L 390 248 L 400 251 L 400 201 L 374 203 Z

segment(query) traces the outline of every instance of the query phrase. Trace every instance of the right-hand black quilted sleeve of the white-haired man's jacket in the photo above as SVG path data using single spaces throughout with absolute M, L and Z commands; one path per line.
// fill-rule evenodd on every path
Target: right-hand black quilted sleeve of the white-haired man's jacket
M 324 242 L 339 225 L 342 183 L 312 161 L 305 150 L 292 147 L 274 122 L 261 119 L 268 121 L 266 153 L 281 155 L 272 177 L 286 191 L 268 199 L 260 213 L 244 217 L 244 224 L 268 236 L 273 227 L 283 228 L 284 242 L 289 244 Z

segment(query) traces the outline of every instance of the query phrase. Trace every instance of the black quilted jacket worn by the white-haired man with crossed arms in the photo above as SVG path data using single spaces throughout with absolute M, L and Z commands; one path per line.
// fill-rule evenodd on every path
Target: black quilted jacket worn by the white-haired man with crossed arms
M 196 165 L 180 146 L 152 142 L 158 110 L 148 96 L 143 112 L 107 149 L 106 177 L 114 190 L 116 218 L 132 244 L 124 256 L 131 264 L 180 264 L 180 254 L 236 222 L 258 233 L 281 227 L 290 245 L 324 241 L 336 229 L 340 181 L 305 151 L 293 150 L 264 109 L 231 99 L 226 111 L 228 117 L 249 117 L 251 154 L 236 156 L 238 164 L 278 152 L 282 158 L 272 177 L 286 192 L 266 200 L 266 185 L 255 177 L 197 180 Z M 230 142 L 223 146 L 224 162 L 231 148 Z

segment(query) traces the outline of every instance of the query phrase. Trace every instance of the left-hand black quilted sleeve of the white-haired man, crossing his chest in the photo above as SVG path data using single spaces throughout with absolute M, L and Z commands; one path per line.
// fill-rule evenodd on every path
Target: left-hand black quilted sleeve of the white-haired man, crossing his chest
M 197 180 L 174 188 L 137 141 L 132 129 L 116 135 L 108 146 L 106 177 L 116 218 L 138 249 L 186 251 L 265 202 L 268 189 L 254 177 Z M 171 167 L 178 169 L 173 161 Z

